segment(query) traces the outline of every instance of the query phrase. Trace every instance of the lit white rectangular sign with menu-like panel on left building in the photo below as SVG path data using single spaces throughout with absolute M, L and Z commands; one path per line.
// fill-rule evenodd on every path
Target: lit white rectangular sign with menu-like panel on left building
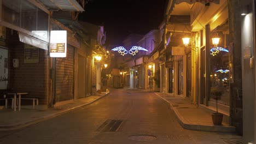
M 67 31 L 50 32 L 50 57 L 66 57 Z

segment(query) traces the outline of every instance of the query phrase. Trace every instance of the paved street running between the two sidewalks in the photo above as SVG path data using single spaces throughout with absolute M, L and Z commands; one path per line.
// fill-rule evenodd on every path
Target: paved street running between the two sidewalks
M 116 89 L 47 121 L 0 131 L 0 143 L 228 143 L 240 136 L 185 130 L 154 93 Z

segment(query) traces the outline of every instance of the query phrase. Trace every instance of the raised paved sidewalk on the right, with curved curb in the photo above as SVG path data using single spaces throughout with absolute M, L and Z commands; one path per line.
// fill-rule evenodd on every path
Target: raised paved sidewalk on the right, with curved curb
M 236 132 L 235 127 L 231 127 L 226 123 L 222 123 L 223 125 L 213 125 L 211 113 L 191 104 L 189 99 L 174 97 L 161 92 L 155 92 L 155 94 L 170 104 L 184 129 L 226 133 Z

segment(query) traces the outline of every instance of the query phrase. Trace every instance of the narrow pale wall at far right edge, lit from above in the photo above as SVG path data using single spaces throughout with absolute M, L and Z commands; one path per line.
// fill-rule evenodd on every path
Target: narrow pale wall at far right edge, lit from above
M 254 142 L 255 110 L 255 68 L 250 68 L 250 58 L 246 58 L 246 47 L 251 47 L 253 56 L 253 14 L 250 13 L 241 19 L 242 40 L 242 87 L 243 87 L 243 141 Z M 251 57 L 252 57 L 251 56 Z

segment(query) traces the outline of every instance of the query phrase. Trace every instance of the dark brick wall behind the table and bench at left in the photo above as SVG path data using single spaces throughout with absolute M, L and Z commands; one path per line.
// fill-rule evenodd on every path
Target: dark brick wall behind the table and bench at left
M 47 51 L 39 49 L 38 63 L 24 63 L 24 43 L 19 41 L 18 32 L 7 28 L 9 48 L 9 89 L 29 92 L 26 97 L 39 98 L 39 104 L 48 104 L 46 99 L 46 57 Z M 19 59 L 19 67 L 13 67 L 13 59 Z M 26 103 L 26 101 L 23 101 Z M 22 103 L 23 103 L 22 102 Z

